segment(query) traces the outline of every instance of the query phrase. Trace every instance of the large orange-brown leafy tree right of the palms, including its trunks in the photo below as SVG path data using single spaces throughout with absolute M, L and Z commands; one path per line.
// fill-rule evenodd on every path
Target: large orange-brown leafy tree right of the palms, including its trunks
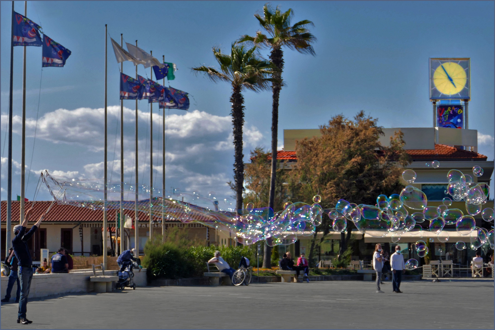
M 323 208 L 335 207 L 339 199 L 374 205 L 379 194 L 389 195 L 403 188 L 399 177 L 409 157 L 402 149 L 400 131 L 391 137 L 390 146 L 381 145 L 383 131 L 377 119 L 361 111 L 354 120 L 343 115 L 332 117 L 328 125 L 320 126 L 320 132 L 319 138 L 297 141 L 297 168 L 288 180 L 293 200 L 308 202 L 319 194 Z M 310 261 L 315 244 L 321 244 L 331 226 L 325 215 L 311 241 Z M 340 256 L 347 249 L 352 228 L 353 223 L 347 221 L 347 233 L 341 233 Z M 323 232 L 319 242 L 317 232 Z

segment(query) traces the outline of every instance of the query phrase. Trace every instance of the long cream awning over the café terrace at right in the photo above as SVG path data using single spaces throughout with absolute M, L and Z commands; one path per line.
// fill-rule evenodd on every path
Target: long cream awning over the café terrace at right
M 459 240 L 470 243 L 471 240 L 469 238 L 470 231 L 462 231 L 461 233 L 457 232 L 455 229 L 446 229 L 443 230 L 440 235 L 437 235 L 435 233 L 432 233 L 428 230 L 423 230 L 421 233 L 418 233 L 416 235 L 412 235 L 411 233 L 404 233 L 402 235 L 397 235 L 395 233 L 388 233 L 387 236 L 385 237 L 376 237 L 379 236 L 378 233 L 365 233 L 364 234 L 364 242 L 365 243 L 392 243 L 392 236 L 395 235 L 397 237 L 400 237 L 400 240 L 397 243 L 414 243 L 418 240 L 424 240 L 425 242 L 427 240 L 430 240 L 430 238 L 433 238 L 433 241 L 436 243 L 440 243 L 441 241 L 439 238 L 444 238 L 448 235 L 448 240 L 446 241 L 447 243 L 455 243 Z M 461 234 L 466 234 L 466 235 L 461 235 Z M 443 242 L 443 241 L 442 241 Z

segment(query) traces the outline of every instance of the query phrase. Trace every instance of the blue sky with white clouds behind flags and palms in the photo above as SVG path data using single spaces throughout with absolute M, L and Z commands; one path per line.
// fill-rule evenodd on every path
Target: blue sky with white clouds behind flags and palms
M 167 190 L 215 191 L 232 194 L 234 151 L 230 122 L 230 93 L 226 83 L 213 84 L 195 76 L 190 68 L 215 65 L 211 47 L 228 50 L 243 34 L 254 34 L 259 25 L 253 14 L 263 1 L 242 2 L 145 2 L 145 1 L 28 1 L 27 16 L 44 32 L 72 51 L 64 68 L 41 70 L 41 47 L 27 47 L 26 163 L 31 163 L 33 135 L 39 107 L 33 171 L 49 171 L 69 177 L 101 178 L 103 161 L 102 112 L 104 87 L 104 25 L 109 36 L 134 43 L 161 60 L 177 64 L 170 86 L 192 95 L 188 113 L 167 111 Z M 384 2 L 272 2 L 283 10 L 293 8 L 294 22 L 309 19 L 317 37 L 316 56 L 284 52 L 280 94 L 279 146 L 284 129 L 317 128 L 335 114 L 352 117 L 359 110 L 379 118 L 383 127 L 431 127 L 432 106 L 428 94 L 429 57 L 471 57 L 472 101 L 469 128 L 479 132 L 479 152 L 494 159 L 494 2 L 490 1 L 384 1 Z M 8 111 L 10 6 L 1 2 L 1 147 L 3 151 Z M 24 2 L 15 10 L 23 13 Z M 116 140 L 119 105 L 119 65 L 108 39 L 108 160 L 119 159 Z M 263 55 L 268 52 L 262 50 Z M 150 75 L 149 69 L 138 68 Z M 124 73 L 134 75 L 130 62 Z M 41 90 L 40 90 L 41 80 Z M 166 83 L 166 85 L 168 85 Z M 21 115 L 22 47 L 14 47 L 14 116 Z M 255 146 L 270 148 L 271 92 L 245 93 L 245 160 Z M 134 101 L 124 101 L 126 181 L 131 181 L 134 152 Z M 141 101 L 140 166 L 144 164 L 148 103 Z M 154 159 L 158 117 L 154 116 Z M 161 114 L 161 112 L 160 112 Z M 13 196 L 19 193 L 20 130 L 14 118 Z M 161 143 L 161 142 L 160 142 Z M 146 162 L 149 163 L 149 151 Z M 1 199 L 6 199 L 6 166 L 2 158 Z M 118 179 L 118 163 L 112 180 Z M 112 165 L 109 165 L 111 171 Z M 161 166 L 157 185 L 161 187 Z M 39 172 L 38 172 L 39 173 Z M 149 167 L 140 168 L 148 184 Z M 37 182 L 31 173 L 26 197 L 31 199 Z M 134 179 L 132 179 L 134 181 Z M 492 185 L 493 187 L 493 185 Z M 43 194 L 43 195 L 42 195 Z M 39 198 L 48 195 L 40 192 Z

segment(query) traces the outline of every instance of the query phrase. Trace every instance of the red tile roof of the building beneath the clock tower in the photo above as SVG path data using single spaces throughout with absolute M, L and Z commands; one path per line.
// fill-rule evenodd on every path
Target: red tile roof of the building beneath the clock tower
M 457 149 L 446 144 L 435 144 L 434 150 L 405 150 L 411 157 L 411 160 L 428 161 L 428 160 L 487 160 L 487 156 L 477 152 Z M 268 160 L 271 160 L 271 154 L 268 155 Z M 297 160 L 296 151 L 278 151 L 278 160 Z

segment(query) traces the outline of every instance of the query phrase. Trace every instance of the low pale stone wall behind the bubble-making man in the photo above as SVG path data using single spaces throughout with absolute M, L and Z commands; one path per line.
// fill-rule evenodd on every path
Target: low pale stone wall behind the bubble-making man
M 101 274 L 98 272 L 97 274 Z M 117 275 L 117 271 L 105 271 L 105 275 Z M 90 276 L 93 276 L 93 270 L 78 270 L 69 274 L 35 274 L 31 281 L 29 291 L 30 298 L 39 298 L 49 295 L 60 295 L 67 293 L 84 293 L 91 292 L 94 289 L 94 283 L 90 282 Z M 7 290 L 8 277 L 1 277 L 1 297 L 5 297 Z M 136 286 L 146 286 L 146 268 L 134 270 L 134 283 Z M 15 299 L 17 284 L 14 284 L 10 299 Z

